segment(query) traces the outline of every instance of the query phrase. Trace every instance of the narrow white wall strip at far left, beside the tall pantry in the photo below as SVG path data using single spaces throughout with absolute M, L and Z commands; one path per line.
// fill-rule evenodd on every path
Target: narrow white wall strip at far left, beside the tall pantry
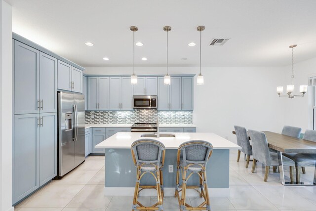
M 12 7 L 0 0 L 0 210 L 12 205 Z

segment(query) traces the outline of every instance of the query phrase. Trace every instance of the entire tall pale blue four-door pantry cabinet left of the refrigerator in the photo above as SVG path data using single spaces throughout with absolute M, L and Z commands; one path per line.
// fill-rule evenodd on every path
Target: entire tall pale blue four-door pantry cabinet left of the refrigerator
M 13 40 L 13 204 L 57 175 L 57 59 Z

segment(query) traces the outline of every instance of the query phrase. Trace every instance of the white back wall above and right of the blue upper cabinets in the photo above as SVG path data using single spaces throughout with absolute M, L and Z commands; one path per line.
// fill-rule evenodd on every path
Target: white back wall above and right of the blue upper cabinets
M 126 74 L 132 68 L 86 68 L 88 75 Z M 205 67 L 204 85 L 194 85 L 193 122 L 198 132 L 215 132 L 236 141 L 234 125 L 280 132 L 284 102 L 276 86 L 284 84 L 283 67 Z M 136 74 L 165 74 L 165 68 L 138 67 Z M 198 74 L 195 67 L 171 67 L 169 74 Z

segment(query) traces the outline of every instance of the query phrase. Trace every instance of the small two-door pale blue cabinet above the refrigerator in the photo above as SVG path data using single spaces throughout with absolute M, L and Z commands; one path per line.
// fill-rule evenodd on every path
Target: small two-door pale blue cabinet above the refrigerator
M 82 71 L 58 60 L 58 89 L 82 93 Z

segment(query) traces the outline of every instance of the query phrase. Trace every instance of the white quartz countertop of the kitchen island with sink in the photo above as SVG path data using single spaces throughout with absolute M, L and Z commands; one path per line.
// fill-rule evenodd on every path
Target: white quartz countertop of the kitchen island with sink
M 142 134 L 142 132 L 118 132 L 96 145 L 95 148 L 130 149 L 130 146 L 134 141 L 144 138 L 141 137 Z M 189 140 L 208 141 L 213 145 L 214 149 L 241 149 L 241 147 L 239 147 L 237 144 L 212 132 L 174 132 L 172 134 L 175 134 L 176 137 L 160 137 L 151 139 L 161 141 L 166 149 L 178 149 L 180 144 Z

